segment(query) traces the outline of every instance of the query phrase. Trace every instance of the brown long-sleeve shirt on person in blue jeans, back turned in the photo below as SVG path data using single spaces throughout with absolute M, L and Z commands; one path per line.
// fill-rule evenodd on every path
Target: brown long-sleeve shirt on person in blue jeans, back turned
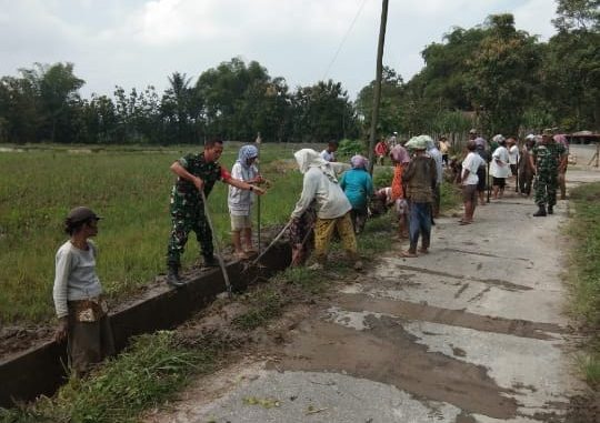
M 407 197 L 414 203 L 433 201 L 433 188 L 438 183 L 436 161 L 428 155 L 417 155 L 404 171 Z

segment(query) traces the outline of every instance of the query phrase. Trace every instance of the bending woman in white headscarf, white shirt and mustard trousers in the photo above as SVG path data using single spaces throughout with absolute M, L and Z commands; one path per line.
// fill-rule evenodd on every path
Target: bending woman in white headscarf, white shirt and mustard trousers
M 304 177 L 302 194 L 291 213 L 291 220 L 293 222 L 300 219 L 311 204 L 314 205 L 317 212 L 314 225 L 317 268 L 321 268 L 327 261 L 329 242 L 333 231 L 337 230 L 348 258 L 354 262 L 354 269 L 361 270 L 362 262 L 358 255 L 357 239 L 350 219 L 352 205 L 336 178 L 334 163 L 327 162 L 312 149 L 302 149 L 293 155 Z

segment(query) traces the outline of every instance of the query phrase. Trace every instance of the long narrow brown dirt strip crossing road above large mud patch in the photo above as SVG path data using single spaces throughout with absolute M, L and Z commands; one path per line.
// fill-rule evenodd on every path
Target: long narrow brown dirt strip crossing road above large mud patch
M 348 311 L 368 310 L 374 313 L 393 314 L 407 320 L 421 320 L 538 340 L 553 340 L 556 338 L 549 333 L 564 333 L 562 328 L 552 323 L 482 316 L 462 310 L 441 309 L 401 300 L 373 299 L 360 294 L 340 294 L 337 303 Z

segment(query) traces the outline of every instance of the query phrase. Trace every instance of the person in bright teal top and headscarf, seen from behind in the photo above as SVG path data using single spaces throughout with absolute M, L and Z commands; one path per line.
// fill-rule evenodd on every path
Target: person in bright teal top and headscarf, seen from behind
M 353 155 L 350 159 L 352 169 L 344 172 L 340 180 L 340 187 L 352 205 L 350 218 L 356 234 L 359 234 L 364 229 L 368 214 L 367 205 L 373 194 L 373 180 L 367 172 L 368 164 L 369 160 L 367 158 L 360 154 Z

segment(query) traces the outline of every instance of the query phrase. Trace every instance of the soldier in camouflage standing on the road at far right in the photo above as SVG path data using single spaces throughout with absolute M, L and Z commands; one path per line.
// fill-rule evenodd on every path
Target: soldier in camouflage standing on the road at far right
M 543 131 L 541 142 L 533 148 L 530 160 L 536 174 L 534 201 L 539 208 L 533 215 L 544 216 L 547 204 L 548 214 L 553 214 L 557 203 L 558 174 L 559 170 L 567 164 L 567 150 L 564 145 L 552 139 L 550 131 Z

